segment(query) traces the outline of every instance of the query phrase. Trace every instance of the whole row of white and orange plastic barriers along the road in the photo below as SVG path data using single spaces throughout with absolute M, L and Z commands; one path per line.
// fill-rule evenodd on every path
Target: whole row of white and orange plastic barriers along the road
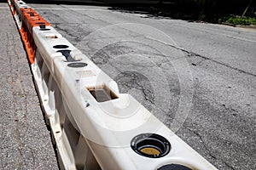
M 26 3 L 9 2 L 26 50 L 32 48 L 32 74 L 62 169 L 216 169 L 130 94 L 119 94 L 117 83 L 52 26 L 32 20 L 44 19 Z

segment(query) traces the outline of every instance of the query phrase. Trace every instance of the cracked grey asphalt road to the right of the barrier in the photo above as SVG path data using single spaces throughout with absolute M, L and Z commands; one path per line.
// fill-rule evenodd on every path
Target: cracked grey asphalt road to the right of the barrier
M 256 30 L 29 5 L 218 169 L 256 169 Z

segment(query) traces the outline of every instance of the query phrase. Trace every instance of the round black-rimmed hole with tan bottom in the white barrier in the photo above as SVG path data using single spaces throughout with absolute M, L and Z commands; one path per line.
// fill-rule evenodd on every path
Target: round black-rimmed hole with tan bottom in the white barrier
M 159 134 L 143 133 L 131 140 L 131 149 L 141 156 L 158 158 L 169 153 L 171 144 Z

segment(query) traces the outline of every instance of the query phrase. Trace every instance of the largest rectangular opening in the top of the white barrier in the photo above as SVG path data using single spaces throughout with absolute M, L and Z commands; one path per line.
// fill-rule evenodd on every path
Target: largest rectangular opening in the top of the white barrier
M 118 99 L 118 96 L 111 91 L 106 85 L 101 87 L 87 88 L 90 94 L 97 100 L 97 102 L 104 102 L 111 99 Z

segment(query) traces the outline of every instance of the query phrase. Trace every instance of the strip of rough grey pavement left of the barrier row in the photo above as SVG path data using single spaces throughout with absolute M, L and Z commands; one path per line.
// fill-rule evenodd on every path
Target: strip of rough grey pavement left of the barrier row
M 8 3 L 0 11 L 0 169 L 58 169 Z

